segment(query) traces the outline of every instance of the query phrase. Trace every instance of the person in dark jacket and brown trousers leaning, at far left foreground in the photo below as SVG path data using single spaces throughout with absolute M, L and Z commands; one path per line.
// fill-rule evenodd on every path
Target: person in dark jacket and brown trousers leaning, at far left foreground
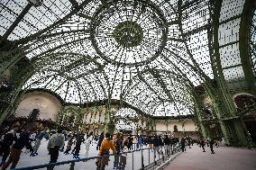
M 17 139 L 14 145 L 11 148 L 10 157 L 1 170 L 5 170 L 10 164 L 12 164 L 11 169 L 14 169 L 18 164 L 22 149 L 26 146 L 27 148 L 32 148 L 30 144 L 30 135 L 37 130 L 36 123 L 29 123 L 27 126 L 27 131 L 23 132 L 20 135 L 20 138 Z

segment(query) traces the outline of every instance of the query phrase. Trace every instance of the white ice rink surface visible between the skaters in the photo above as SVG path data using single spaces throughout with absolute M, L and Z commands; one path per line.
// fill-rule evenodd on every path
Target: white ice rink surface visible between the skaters
M 36 157 L 30 157 L 30 153 L 28 153 L 28 150 L 23 149 L 23 153 L 21 155 L 21 159 L 16 167 L 24 167 L 24 166 L 37 166 L 37 165 L 43 165 L 43 164 L 49 164 L 50 161 L 50 155 L 48 155 L 48 150 L 47 150 L 47 143 L 45 139 L 41 140 L 41 146 L 38 150 L 38 156 Z M 68 141 L 65 142 L 65 149 L 67 147 Z M 72 149 L 75 146 L 72 146 Z M 143 148 L 147 148 L 144 146 Z M 72 160 L 73 155 L 70 154 L 71 151 L 69 152 L 69 155 L 65 155 L 63 152 L 59 152 L 59 161 L 67 161 L 67 160 Z M 111 151 L 112 153 L 112 151 Z M 80 149 L 80 158 L 85 158 L 86 154 L 86 146 L 85 144 L 81 145 Z M 89 149 L 89 156 L 88 157 L 96 157 L 97 156 L 97 151 L 96 151 L 96 143 L 93 142 L 90 146 Z M 157 159 L 160 158 L 161 156 L 156 153 Z M 0 157 L 2 159 L 2 157 Z M 134 161 L 133 161 L 134 160 Z M 153 163 L 154 161 L 154 151 L 152 149 L 146 149 L 143 151 L 135 151 L 133 154 L 128 153 L 127 156 L 127 164 L 125 166 L 125 169 L 128 170 L 137 170 L 142 168 L 142 160 L 144 165 L 149 165 L 149 163 Z M 64 165 L 64 166 L 55 166 L 55 170 L 69 170 L 70 165 Z M 110 157 L 110 161 L 108 163 L 108 166 L 105 167 L 106 170 L 108 169 L 113 169 L 114 167 L 114 157 Z M 46 168 L 41 168 L 46 169 Z M 76 170 L 85 170 L 85 169 L 90 169 L 94 170 L 96 169 L 96 159 L 94 160 L 88 160 L 86 162 L 78 162 L 75 165 Z

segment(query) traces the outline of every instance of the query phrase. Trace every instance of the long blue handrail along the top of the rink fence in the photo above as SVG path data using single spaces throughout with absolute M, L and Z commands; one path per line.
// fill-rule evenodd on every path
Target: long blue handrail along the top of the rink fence
M 172 145 L 169 145 L 169 146 L 172 146 Z M 176 148 L 178 148 L 178 147 L 176 147 Z M 135 150 L 128 151 L 128 152 L 122 152 L 122 153 L 120 153 L 120 155 L 121 154 L 134 153 L 134 152 L 137 152 L 137 151 L 143 151 L 143 150 L 148 150 L 148 149 L 154 149 L 154 148 L 158 148 L 158 147 L 135 149 Z M 70 163 L 74 164 L 76 162 L 86 162 L 88 160 L 92 160 L 92 159 L 96 159 L 96 158 L 100 158 L 100 157 L 110 157 L 110 156 L 116 156 L 116 154 L 109 154 L 109 155 L 105 155 L 105 156 L 96 156 L 96 157 L 87 157 L 87 158 L 78 158 L 78 159 L 72 159 L 72 160 L 61 161 L 61 162 L 56 162 L 56 163 L 43 164 L 43 165 L 38 165 L 38 166 L 23 166 L 23 167 L 17 167 L 17 168 L 14 168 L 14 169 L 10 169 L 10 170 L 34 170 L 34 169 L 40 169 L 40 168 L 44 168 L 44 167 L 67 165 L 67 164 L 70 164 Z

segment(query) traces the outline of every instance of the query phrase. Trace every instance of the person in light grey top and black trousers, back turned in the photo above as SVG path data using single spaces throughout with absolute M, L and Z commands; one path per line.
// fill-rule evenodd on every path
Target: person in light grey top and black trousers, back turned
M 56 134 L 53 134 L 50 137 L 50 140 L 47 145 L 47 149 L 50 153 L 50 163 L 56 163 L 59 157 L 59 148 L 64 146 L 65 137 L 62 134 L 62 130 L 57 130 Z M 54 166 L 50 166 L 47 170 L 52 170 Z

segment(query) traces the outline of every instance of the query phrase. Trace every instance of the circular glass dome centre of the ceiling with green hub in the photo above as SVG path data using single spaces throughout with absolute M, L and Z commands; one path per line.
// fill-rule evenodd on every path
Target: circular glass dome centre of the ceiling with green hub
M 167 41 L 166 25 L 151 1 L 106 1 L 93 15 L 91 40 L 105 61 L 141 66 L 160 55 Z

